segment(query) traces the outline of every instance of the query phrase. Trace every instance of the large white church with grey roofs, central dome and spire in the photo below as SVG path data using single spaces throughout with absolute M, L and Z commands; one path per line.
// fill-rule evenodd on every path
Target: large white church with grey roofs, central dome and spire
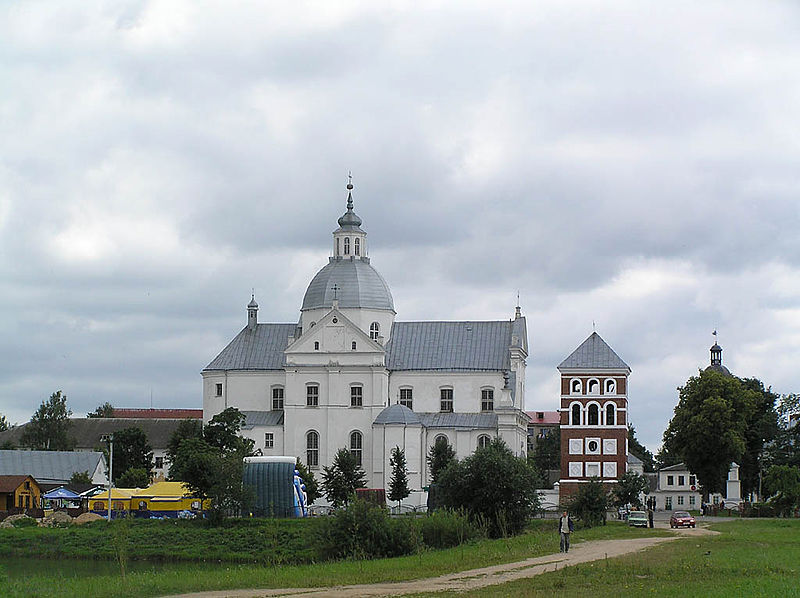
M 340 448 L 360 460 L 371 488 L 388 488 L 390 451 L 405 450 L 406 501 L 424 501 L 426 454 L 446 439 L 458 458 L 499 436 L 525 455 L 525 317 L 502 321 L 395 321 L 389 285 L 372 266 L 353 211 L 333 232 L 328 263 L 308 285 L 297 323 L 247 325 L 202 371 L 203 420 L 227 407 L 263 455 L 294 455 L 311 469 Z

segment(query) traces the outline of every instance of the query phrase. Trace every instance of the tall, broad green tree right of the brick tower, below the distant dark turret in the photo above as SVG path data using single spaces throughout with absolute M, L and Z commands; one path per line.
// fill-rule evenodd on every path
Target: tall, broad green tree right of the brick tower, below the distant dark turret
M 758 393 L 738 378 L 701 371 L 678 389 L 679 401 L 664 432 L 664 450 L 697 475 L 705 497 L 721 492 L 732 461 L 741 461 Z

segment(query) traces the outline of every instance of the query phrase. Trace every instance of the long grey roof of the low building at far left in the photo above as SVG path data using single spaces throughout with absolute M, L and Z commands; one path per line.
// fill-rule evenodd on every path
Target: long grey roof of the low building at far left
M 37 482 L 66 483 L 75 472 L 91 476 L 103 453 L 89 451 L 2 451 L 0 475 L 30 475 Z

